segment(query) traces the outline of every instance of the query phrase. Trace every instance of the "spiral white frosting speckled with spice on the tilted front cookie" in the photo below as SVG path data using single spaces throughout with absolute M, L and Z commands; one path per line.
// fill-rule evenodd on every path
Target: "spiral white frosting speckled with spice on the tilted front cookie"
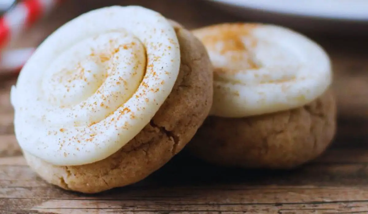
M 171 93 L 180 48 L 139 6 L 83 14 L 50 35 L 11 91 L 22 149 L 55 165 L 93 163 L 135 137 Z

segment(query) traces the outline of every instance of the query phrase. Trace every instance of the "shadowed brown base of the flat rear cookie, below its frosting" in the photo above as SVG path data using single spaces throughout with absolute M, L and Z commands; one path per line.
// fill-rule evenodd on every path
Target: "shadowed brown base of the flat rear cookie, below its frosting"
M 210 116 L 188 149 L 207 162 L 247 168 L 293 168 L 319 156 L 336 130 L 329 89 L 302 108 L 246 118 Z

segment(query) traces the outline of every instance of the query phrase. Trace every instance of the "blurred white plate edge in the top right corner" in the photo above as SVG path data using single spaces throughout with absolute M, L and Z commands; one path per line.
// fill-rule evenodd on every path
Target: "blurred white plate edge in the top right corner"
M 210 0 L 229 6 L 315 18 L 368 22 L 368 0 Z

